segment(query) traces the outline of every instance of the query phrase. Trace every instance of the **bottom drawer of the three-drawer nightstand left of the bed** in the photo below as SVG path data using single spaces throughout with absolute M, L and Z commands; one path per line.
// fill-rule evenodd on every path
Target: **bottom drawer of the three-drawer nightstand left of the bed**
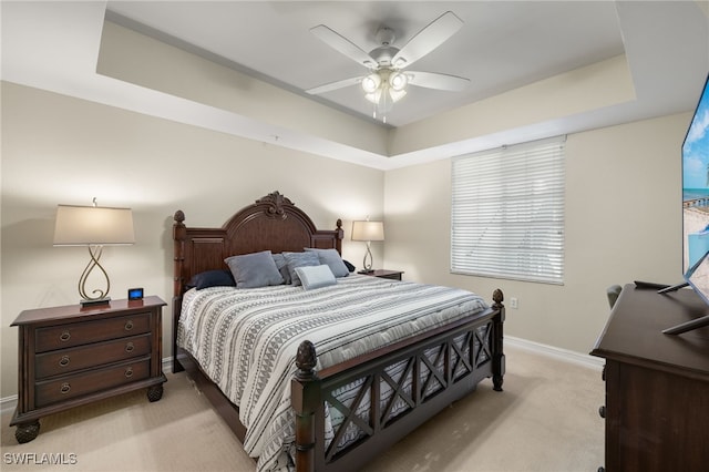
M 150 373 L 151 360 L 147 358 L 105 369 L 75 373 L 56 380 L 39 381 L 34 384 L 34 406 L 35 408 L 41 408 L 83 394 L 147 379 Z

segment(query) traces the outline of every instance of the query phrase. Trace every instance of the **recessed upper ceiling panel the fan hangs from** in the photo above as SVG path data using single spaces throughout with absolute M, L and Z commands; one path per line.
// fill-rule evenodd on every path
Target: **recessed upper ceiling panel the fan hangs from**
M 394 126 L 624 52 L 613 2 L 111 1 L 109 10 L 132 20 L 124 24 L 208 51 L 298 93 L 366 71 L 310 28 L 326 24 L 370 51 L 378 45 L 377 30 L 386 25 L 394 30 L 394 44 L 401 48 L 443 12 L 453 11 L 463 28 L 413 69 L 464 76 L 470 86 L 463 92 L 410 90 L 387 116 Z M 110 18 L 120 22 L 116 16 Z M 372 107 L 362 95 L 350 86 L 322 99 L 369 117 Z

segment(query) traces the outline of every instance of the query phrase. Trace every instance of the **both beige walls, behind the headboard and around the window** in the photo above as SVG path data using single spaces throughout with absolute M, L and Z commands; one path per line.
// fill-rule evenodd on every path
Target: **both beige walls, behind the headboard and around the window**
M 381 172 L 105 105 L 2 84 L 0 398 L 17 392 L 17 328 L 28 308 L 74 304 L 88 255 L 52 247 L 56 204 L 131 206 L 136 244 L 110 247 L 114 298 L 143 286 L 169 302 L 172 215 L 218 226 L 278 189 L 318 227 L 384 216 L 376 267 L 409 280 L 516 297 L 506 334 L 586 353 L 603 328 L 610 284 L 680 280 L 679 148 L 689 114 L 573 134 L 567 140 L 566 283 L 452 275 L 450 161 Z M 208 204 L 206 204 L 208 203 Z M 343 255 L 361 263 L 363 244 Z M 171 307 L 164 314 L 169 339 Z M 164 355 L 169 353 L 165 343 Z

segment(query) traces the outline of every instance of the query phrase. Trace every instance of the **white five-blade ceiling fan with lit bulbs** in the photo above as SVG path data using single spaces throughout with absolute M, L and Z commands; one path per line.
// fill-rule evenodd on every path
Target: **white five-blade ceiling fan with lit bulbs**
M 409 84 L 428 89 L 461 91 L 469 79 L 438 72 L 418 72 L 405 70 L 419 59 L 451 38 L 463 25 L 463 21 L 452 11 L 446 11 L 419 31 L 401 49 L 393 45 L 395 35 L 390 28 L 381 28 L 377 32 L 377 42 L 381 45 L 370 52 L 326 27 L 319 24 L 310 29 L 316 37 L 332 49 L 347 55 L 354 62 L 369 69 L 364 75 L 327 83 L 306 90 L 309 94 L 320 94 L 350 85 L 360 84 L 364 98 L 374 104 L 374 117 L 380 113 L 386 121 L 386 113 L 407 94 Z

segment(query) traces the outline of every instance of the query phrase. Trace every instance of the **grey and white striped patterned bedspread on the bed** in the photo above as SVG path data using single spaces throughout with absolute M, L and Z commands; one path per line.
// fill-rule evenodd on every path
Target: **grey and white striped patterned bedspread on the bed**
M 322 369 L 486 308 L 462 289 L 359 275 L 316 290 L 193 289 L 183 298 L 177 343 L 239 407 L 257 469 L 277 470 L 295 439 L 290 379 L 301 341 L 315 343 Z

